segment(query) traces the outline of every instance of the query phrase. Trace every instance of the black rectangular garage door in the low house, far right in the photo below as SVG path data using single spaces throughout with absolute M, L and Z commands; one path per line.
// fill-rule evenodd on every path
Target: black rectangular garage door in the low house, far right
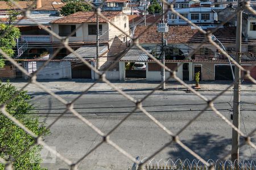
M 234 66 L 233 71 L 234 71 Z M 215 66 L 215 80 L 233 80 L 232 72 L 229 65 Z

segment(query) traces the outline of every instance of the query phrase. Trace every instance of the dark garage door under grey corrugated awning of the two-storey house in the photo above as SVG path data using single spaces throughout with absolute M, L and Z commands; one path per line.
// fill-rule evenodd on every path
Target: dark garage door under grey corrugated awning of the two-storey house
M 72 66 L 72 79 L 78 78 L 91 79 L 92 71 L 85 65 Z

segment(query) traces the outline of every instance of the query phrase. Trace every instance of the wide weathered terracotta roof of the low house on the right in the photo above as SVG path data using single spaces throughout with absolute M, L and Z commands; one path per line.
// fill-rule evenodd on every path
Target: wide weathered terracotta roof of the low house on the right
M 236 27 L 219 28 L 213 34 L 222 43 L 236 42 Z M 138 36 L 141 44 L 160 44 L 162 42 L 162 33 L 157 32 L 156 26 L 150 28 L 147 26 L 137 26 L 134 37 Z M 205 36 L 198 29 L 192 29 L 191 26 L 174 25 L 169 27 L 169 32 L 165 34 L 165 38 L 168 44 L 182 44 L 188 42 L 200 43 L 204 41 Z

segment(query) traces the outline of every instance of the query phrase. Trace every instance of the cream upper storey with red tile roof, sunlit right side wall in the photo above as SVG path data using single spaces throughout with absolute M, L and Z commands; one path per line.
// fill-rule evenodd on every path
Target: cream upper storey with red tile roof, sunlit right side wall
M 123 14 L 122 11 L 102 11 L 102 15 L 105 16 L 106 20 L 101 16 L 98 16 L 100 35 L 100 44 L 106 42 L 109 44 L 109 48 L 112 48 L 114 40 L 122 41 L 126 44 L 127 35 L 130 35 L 129 19 L 128 16 Z M 94 12 L 76 12 L 68 16 L 64 16 L 61 19 L 55 20 L 51 23 L 51 29 L 60 37 L 65 37 L 75 31 L 73 35 L 69 36 L 70 43 L 76 43 L 84 45 L 87 42 L 96 44 L 96 20 L 97 16 Z M 110 22 L 112 24 L 110 24 Z M 119 29 L 117 29 L 116 27 Z M 123 33 L 125 32 L 125 33 Z M 61 40 L 52 36 L 52 42 L 60 42 Z M 114 43 L 115 44 L 115 43 Z

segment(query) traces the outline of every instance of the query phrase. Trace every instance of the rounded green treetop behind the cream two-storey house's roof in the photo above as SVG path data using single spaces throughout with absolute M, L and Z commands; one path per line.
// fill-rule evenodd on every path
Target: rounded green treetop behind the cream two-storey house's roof
M 81 1 L 73 1 L 73 2 L 68 2 L 67 5 L 62 7 L 60 10 L 60 14 L 67 16 L 79 11 L 90 11 L 90 10 L 92 10 L 92 8 L 88 4 Z

